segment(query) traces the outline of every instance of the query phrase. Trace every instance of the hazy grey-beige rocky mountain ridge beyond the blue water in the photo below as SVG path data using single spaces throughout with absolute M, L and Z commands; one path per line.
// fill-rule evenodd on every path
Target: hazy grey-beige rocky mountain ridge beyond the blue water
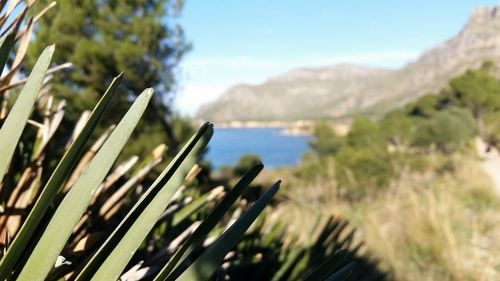
M 341 64 L 296 69 L 261 85 L 237 85 L 196 117 L 215 122 L 378 115 L 484 61 L 500 64 L 500 6 L 476 9 L 462 31 L 399 70 Z

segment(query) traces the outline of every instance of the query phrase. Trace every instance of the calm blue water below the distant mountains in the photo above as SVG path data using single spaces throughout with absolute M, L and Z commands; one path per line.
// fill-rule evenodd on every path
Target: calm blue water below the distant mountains
M 310 136 L 288 136 L 283 128 L 215 128 L 205 158 L 215 169 L 234 165 L 244 154 L 257 154 L 265 167 L 297 164 L 309 150 Z

